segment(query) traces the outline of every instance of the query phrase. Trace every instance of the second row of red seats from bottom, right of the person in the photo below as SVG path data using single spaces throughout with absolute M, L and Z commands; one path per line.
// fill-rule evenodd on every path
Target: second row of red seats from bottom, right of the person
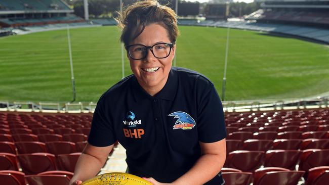
M 283 167 L 307 171 L 317 166 L 329 165 L 329 149 L 269 150 L 230 152 L 224 167 L 252 172 L 261 166 Z

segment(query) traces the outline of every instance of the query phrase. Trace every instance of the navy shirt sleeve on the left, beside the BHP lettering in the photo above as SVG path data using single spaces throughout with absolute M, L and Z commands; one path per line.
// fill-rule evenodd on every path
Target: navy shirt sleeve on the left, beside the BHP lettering
M 104 95 L 99 99 L 88 137 L 88 143 L 95 147 L 106 147 L 116 142 L 113 124 L 109 118 L 109 102 Z

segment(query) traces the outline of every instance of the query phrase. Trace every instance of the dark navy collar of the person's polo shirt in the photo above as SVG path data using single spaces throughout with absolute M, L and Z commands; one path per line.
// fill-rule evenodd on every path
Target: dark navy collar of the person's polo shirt
M 178 88 L 178 76 L 175 69 L 171 69 L 165 86 L 154 96 L 149 95 L 143 87 L 138 83 L 136 76 L 133 77 L 132 81 L 132 94 L 136 102 L 143 101 L 145 99 L 159 98 L 163 100 L 173 101 L 176 96 Z

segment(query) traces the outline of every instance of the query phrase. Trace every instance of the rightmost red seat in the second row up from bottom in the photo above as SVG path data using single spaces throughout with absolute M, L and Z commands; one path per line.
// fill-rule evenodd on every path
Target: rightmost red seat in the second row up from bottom
M 299 163 L 299 170 L 307 171 L 317 166 L 329 165 L 329 149 L 304 150 Z

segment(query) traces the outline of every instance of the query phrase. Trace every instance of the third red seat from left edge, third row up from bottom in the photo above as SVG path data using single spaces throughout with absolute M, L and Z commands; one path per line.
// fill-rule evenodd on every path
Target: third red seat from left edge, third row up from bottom
M 70 154 L 75 153 L 75 144 L 72 142 L 47 142 L 46 147 L 49 153 L 59 155 L 59 154 Z

